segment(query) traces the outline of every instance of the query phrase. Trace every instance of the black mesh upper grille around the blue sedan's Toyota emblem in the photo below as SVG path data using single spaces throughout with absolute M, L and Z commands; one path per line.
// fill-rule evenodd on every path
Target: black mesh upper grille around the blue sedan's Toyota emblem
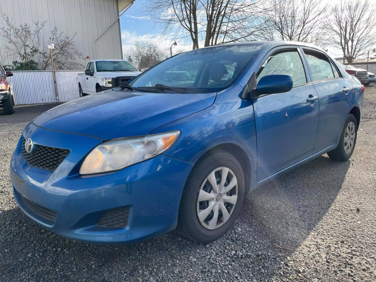
M 27 153 L 25 149 L 25 138 L 22 139 L 21 154 L 30 167 L 54 171 L 70 153 L 69 149 L 61 149 L 49 146 L 36 146 L 35 152 Z

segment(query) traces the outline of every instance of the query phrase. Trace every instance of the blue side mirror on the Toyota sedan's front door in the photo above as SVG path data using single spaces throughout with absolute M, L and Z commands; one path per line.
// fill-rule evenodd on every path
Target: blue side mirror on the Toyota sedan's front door
M 262 77 L 257 83 L 256 91 L 260 94 L 288 92 L 293 88 L 290 74 L 271 74 Z

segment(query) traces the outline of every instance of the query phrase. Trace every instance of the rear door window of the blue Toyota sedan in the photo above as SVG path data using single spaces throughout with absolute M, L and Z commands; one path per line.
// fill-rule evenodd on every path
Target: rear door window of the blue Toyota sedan
M 327 56 L 310 50 L 304 50 L 304 53 L 311 68 L 313 81 L 334 78 L 332 65 Z M 338 72 L 337 77 L 339 77 Z

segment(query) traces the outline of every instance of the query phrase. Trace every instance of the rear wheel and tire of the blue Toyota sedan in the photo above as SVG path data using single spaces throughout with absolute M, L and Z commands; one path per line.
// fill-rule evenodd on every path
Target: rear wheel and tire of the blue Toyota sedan
M 338 143 L 337 148 L 327 153 L 329 158 L 331 158 L 334 161 L 347 161 L 348 159 L 350 159 L 355 149 L 357 135 L 358 135 L 358 125 L 356 123 L 356 118 L 354 117 L 353 114 L 349 114 L 343 126 L 340 141 Z M 350 136 L 349 138 L 350 141 L 345 142 L 347 136 Z M 347 147 L 349 145 L 349 142 L 350 142 L 350 147 Z

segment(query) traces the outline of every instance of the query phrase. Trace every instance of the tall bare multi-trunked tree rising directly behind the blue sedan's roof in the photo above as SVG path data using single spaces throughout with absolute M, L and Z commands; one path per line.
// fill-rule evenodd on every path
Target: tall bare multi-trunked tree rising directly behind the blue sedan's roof
M 253 39 L 263 26 L 264 0 L 151 0 L 142 11 L 164 24 L 164 35 L 173 28 L 183 31 L 192 48 Z

